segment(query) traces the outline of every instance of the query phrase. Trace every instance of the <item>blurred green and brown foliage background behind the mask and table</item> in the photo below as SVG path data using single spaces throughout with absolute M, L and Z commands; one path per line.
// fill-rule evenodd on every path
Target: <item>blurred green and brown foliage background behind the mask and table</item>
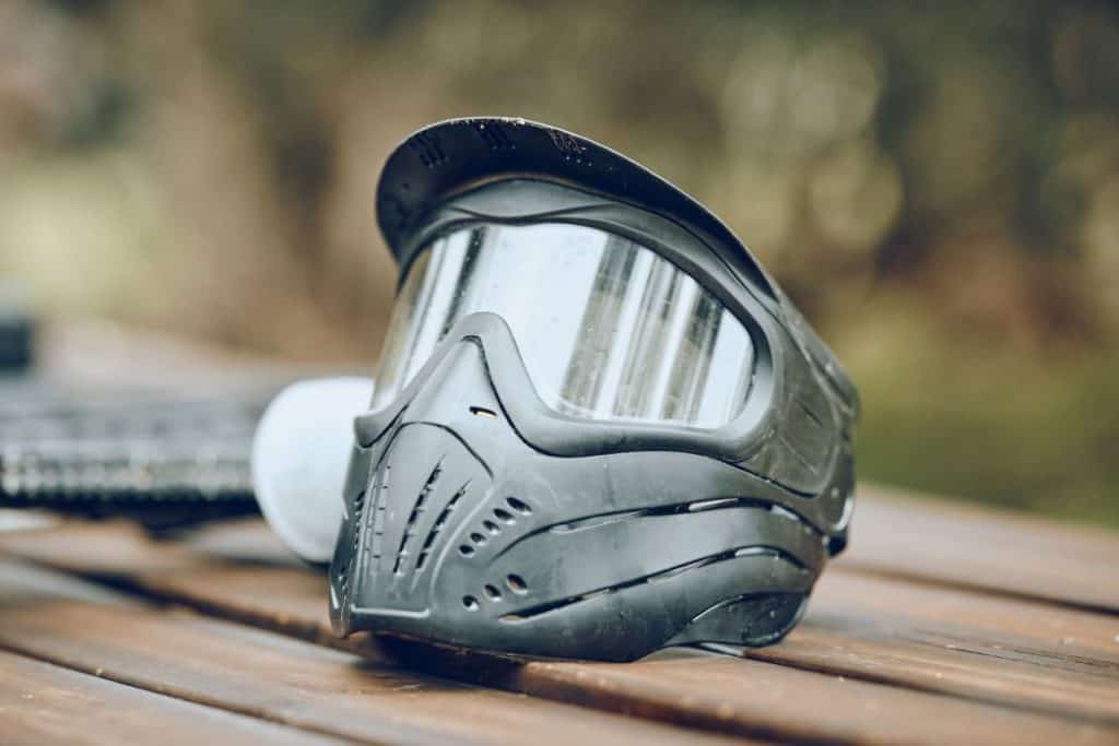
M 372 361 L 379 167 L 482 113 L 724 217 L 858 383 L 862 478 L 1119 526 L 1112 2 L 0 0 L 0 277 Z

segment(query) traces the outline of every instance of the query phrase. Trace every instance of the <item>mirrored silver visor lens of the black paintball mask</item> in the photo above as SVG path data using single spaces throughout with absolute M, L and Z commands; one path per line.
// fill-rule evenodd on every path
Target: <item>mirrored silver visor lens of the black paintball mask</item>
M 596 421 L 720 427 L 743 407 L 743 324 L 652 251 L 567 224 L 480 225 L 413 261 L 393 312 L 374 408 L 391 404 L 463 317 L 509 324 L 537 394 Z

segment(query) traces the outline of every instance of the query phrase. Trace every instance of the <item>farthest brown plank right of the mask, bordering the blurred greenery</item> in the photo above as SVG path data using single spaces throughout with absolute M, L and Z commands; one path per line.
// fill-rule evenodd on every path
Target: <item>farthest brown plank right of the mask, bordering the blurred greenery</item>
M 836 566 L 1119 614 L 1119 535 L 861 487 Z

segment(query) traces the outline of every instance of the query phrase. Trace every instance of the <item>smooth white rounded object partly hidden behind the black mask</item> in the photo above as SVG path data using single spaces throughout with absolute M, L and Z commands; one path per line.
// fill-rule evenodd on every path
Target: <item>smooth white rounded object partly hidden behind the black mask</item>
M 374 381 L 303 380 L 280 391 L 253 437 L 253 489 L 261 512 L 295 555 L 327 563 L 342 523 L 342 488 L 354 417 L 369 408 Z

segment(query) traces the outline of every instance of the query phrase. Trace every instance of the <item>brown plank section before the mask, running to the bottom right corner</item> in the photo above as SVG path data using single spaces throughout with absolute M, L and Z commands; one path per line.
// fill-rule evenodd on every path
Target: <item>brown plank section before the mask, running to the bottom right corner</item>
M 712 727 L 770 729 L 808 743 L 1116 743 L 1117 731 L 953 697 L 899 689 L 700 651 L 658 653 L 639 663 L 536 663 L 525 691 L 646 717 Z

